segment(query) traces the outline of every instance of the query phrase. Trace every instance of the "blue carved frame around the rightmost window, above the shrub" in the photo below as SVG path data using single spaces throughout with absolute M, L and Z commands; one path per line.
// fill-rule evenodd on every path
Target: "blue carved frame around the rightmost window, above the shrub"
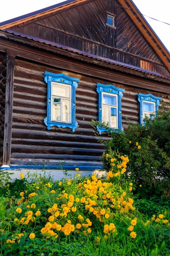
M 141 94 L 141 93 L 138 93 L 139 122 L 140 122 L 140 124 L 144 123 L 144 115 L 143 115 L 143 113 L 144 113 L 144 108 L 143 108 L 144 101 L 154 102 L 155 103 L 155 116 L 156 116 L 161 99 L 162 99 L 161 97 L 156 97 L 156 96 L 154 96 L 152 94 Z

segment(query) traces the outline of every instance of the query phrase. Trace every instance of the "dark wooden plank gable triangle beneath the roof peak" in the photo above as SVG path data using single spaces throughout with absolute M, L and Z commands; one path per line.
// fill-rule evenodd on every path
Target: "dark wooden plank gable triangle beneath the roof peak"
M 115 15 L 116 29 L 106 25 L 107 13 Z M 162 65 L 116 0 L 85 1 L 9 29 L 138 67 L 143 65 L 137 57 Z M 168 75 L 162 68 L 150 68 Z

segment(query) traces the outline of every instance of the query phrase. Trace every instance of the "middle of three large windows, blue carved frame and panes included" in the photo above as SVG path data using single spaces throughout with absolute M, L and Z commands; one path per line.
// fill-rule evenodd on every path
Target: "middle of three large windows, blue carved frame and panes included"
M 99 121 L 108 123 L 110 128 L 122 129 L 121 98 L 124 89 L 97 83 L 97 92 L 99 93 Z M 98 127 L 98 130 L 101 134 L 106 129 Z

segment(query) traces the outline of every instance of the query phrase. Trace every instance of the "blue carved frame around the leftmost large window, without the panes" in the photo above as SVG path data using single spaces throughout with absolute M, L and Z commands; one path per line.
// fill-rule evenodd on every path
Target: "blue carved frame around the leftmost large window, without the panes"
M 51 126 L 57 126 L 62 128 L 71 128 L 74 132 L 78 127 L 78 123 L 75 120 L 75 90 L 78 87 L 79 79 L 67 76 L 65 74 L 54 74 L 51 72 L 44 72 L 44 81 L 47 83 L 47 116 L 44 118 L 44 123 L 49 130 Z M 58 122 L 52 120 L 52 86 L 53 82 L 61 83 L 63 85 L 71 85 L 71 117 L 70 122 Z

